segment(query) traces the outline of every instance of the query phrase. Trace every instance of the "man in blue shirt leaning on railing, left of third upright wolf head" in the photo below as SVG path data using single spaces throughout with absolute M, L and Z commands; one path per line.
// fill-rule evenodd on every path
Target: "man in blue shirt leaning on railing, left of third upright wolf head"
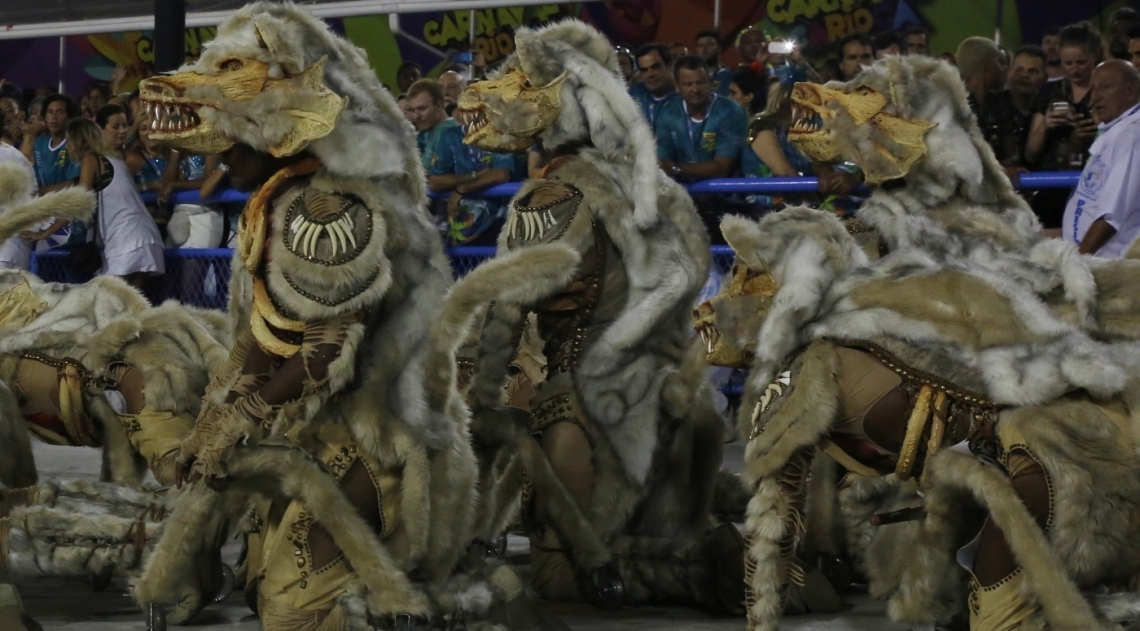
M 748 115 L 711 90 L 709 67 L 695 55 L 674 65 L 681 98 L 667 104 L 657 120 L 657 157 L 678 180 L 727 178 L 748 131 Z

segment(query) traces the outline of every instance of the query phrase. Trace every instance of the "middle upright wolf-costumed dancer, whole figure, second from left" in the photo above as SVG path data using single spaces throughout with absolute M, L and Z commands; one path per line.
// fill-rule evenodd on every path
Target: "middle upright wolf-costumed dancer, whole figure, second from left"
M 465 142 L 514 151 L 537 141 L 552 158 L 512 200 L 499 256 L 559 243 L 583 264 L 551 300 L 489 310 L 472 386 L 477 443 L 522 458 L 544 597 L 739 612 L 739 534 L 710 530 L 722 431 L 686 321 L 708 237 L 659 171 L 604 36 L 569 21 L 520 28 L 515 49 L 455 116 Z M 547 368 L 528 413 L 499 405 L 530 311 Z

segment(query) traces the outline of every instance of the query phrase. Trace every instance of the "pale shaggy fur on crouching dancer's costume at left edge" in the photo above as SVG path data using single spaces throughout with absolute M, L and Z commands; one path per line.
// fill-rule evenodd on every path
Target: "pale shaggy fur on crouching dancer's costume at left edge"
M 137 290 L 115 277 L 84 285 L 46 284 L 18 271 L 0 272 L 0 292 L 27 284 L 41 302 L 39 317 L 0 337 L 0 353 L 38 352 L 73 358 L 101 376 L 112 362 L 142 372 L 147 407 L 172 415 L 197 415 L 199 393 L 220 368 L 229 331 L 220 313 L 166 303 L 150 308 Z M 84 392 L 84 409 L 103 433 L 104 478 L 137 485 L 140 462 L 162 456 L 140 454 L 101 390 Z M 10 448 L 0 466 L 0 482 L 27 486 L 35 466 L 27 429 L 15 396 L 0 390 L 0 441 Z M 145 460 L 140 461 L 142 456 Z M 9 473 L 5 473 L 5 472 Z

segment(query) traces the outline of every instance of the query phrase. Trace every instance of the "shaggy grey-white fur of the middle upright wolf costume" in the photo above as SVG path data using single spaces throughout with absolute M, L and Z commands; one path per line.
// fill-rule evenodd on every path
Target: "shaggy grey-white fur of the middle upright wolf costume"
M 532 85 L 562 81 L 562 108 L 537 138 L 547 148 L 589 145 L 545 180 L 524 185 L 515 203 L 544 185 L 579 191 L 581 202 L 555 240 L 585 253 L 604 232 L 620 262 L 606 263 L 598 300 L 612 302 L 608 296 L 621 292 L 625 298 L 612 323 L 586 336 L 572 370 L 592 426 L 591 506 L 577 505 L 537 444 L 514 440 L 535 497 L 546 503 L 577 571 L 617 558 L 628 603 L 685 593 L 692 585 L 670 572 L 686 572 L 684 563 L 674 562 L 708 528 L 720 464 L 711 391 L 687 322 L 708 274 L 708 239 L 687 195 L 657 169 L 652 133 L 626 92 L 606 40 L 572 21 L 520 28 L 515 40 L 518 54 L 505 68 L 521 68 Z M 522 104 L 499 103 L 494 88 L 478 95 L 494 112 L 491 125 L 527 126 L 526 116 L 534 115 Z M 514 218 L 521 211 L 512 204 L 511 212 Z M 507 255 L 512 238 L 511 229 L 500 235 L 499 256 Z M 523 319 L 514 305 L 489 310 L 472 386 L 478 404 L 500 404 Z M 653 539 L 638 542 L 640 536 Z M 674 549 L 665 554 L 669 541 Z M 650 557 L 657 550 L 661 558 L 644 557 L 642 567 L 633 559 L 637 550 Z

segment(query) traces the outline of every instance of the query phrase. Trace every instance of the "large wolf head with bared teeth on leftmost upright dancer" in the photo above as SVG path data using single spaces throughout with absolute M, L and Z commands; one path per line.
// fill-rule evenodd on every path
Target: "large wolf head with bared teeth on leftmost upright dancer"
M 197 62 L 142 82 L 139 96 L 153 138 L 182 149 L 307 150 L 334 175 L 424 190 L 414 130 L 367 56 L 291 2 L 242 8 Z

